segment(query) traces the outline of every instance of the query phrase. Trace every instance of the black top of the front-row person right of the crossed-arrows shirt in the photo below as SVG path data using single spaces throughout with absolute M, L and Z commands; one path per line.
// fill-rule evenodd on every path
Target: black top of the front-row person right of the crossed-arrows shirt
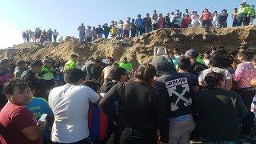
M 238 139 L 239 117 L 247 113 L 242 98 L 233 91 L 206 88 L 195 94 L 193 107 L 198 114 L 197 131 L 207 141 Z

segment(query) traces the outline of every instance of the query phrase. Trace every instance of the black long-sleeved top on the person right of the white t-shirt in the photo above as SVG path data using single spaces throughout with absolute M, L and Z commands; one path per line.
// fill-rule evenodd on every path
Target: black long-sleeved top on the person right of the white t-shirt
M 159 128 L 162 142 L 168 142 L 166 98 L 161 91 L 141 82 L 119 82 L 102 98 L 99 106 L 112 116 L 113 102 L 118 102 L 118 119 L 122 125 L 138 130 L 143 137 L 156 138 Z

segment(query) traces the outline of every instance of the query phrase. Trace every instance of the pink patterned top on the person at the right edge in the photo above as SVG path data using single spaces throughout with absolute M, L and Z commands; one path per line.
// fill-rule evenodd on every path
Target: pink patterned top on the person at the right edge
M 233 80 L 237 89 L 250 87 L 250 81 L 256 78 L 256 69 L 251 62 L 240 63 L 233 74 Z

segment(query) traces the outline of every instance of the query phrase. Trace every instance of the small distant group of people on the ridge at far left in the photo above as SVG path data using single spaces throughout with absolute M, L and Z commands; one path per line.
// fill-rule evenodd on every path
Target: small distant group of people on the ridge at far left
M 57 30 L 40 30 L 36 28 L 34 31 L 26 30 L 22 32 L 22 39 L 25 42 L 39 42 L 41 45 L 46 45 L 51 42 L 57 42 L 58 31 Z M 54 38 L 54 39 L 53 39 Z M 58 42 L 62 42 L 63 38 L 59 38 Z

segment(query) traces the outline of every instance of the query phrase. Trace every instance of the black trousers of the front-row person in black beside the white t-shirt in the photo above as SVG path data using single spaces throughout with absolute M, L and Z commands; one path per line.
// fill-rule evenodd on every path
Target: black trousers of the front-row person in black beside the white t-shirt
M 150 132 L 147 132 L 150 133 Z M 152 134 L 142 134 L 139 130 L 135 130 L 130 127 L 126 127 L 122 130 L 119 140 L 120 144 L 156 144 L 157 137 L 156 131 Z

